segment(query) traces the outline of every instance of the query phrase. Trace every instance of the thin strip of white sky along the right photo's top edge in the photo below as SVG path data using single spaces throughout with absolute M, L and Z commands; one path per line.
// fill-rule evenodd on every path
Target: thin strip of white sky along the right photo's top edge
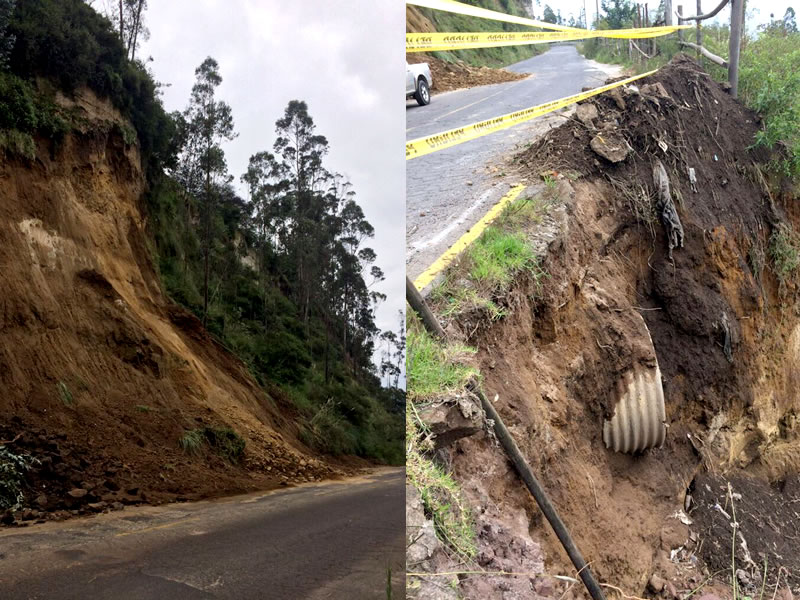
M 594 21 L 595 19 L 595 6 L 600 4 L 599 0 L 553 0 L 552 2 L 548 2 L 547 0 L 532 0 L 533 1 L 533 12 L 536 14 L 537 17 L 542 16 L 542 12 L 544 12 L 544 7 L 546 4 L 550 5 L 554 11 L 561 10 L 561 16 L 565 20 L 569 20 L 570 15 L 578 19 L 578 16 L 584 10 L 584 5 L 586 6 L 586 10 L 589 13 L 589 22 Z M 638 2 L 638 4 L 644 4 L 644 2 Z M 650 9 L 654 9 L 658 7 L 658 0 L 650 0 L 647 5 Z M 673 10 L 677 10 L 678 5 L 683 5 L 683 14 L 697 14 L 697 2 L 696 0 L 672 0 Z M 710 11 L 711 9 L 715 8 L 719 4 L 719 0 L 702 0 L 701 6 L 703 7 L 703 11 Z M 770 21 L 770 13 L 775 15 L 776 19 L 780 19 L 783 17 L 783 14 L 786 12 L 786 8 L 792 6 L 795 11 L 800 10 L 800 0 L 758 0 L 758 2 L 751 2 L 748 3 L 747 7 L 747 30 L 748 31 L 755 31 L 758 25 L 763 25 Z M 602 12 L 602 10 L 601 10 Z M 719 22 L 719 23 L 729 23 L 731 19 L 731 12 L 730 8 L 726 6 L 723 8 L 719 14 L 714 17 L 710 22 Z

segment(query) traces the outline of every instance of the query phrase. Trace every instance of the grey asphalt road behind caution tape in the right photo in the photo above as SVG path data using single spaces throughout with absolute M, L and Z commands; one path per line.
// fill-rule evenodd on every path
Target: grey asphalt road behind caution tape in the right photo
M 553 46 L 506 68 L 532 76 L 438 94 L 428 106 L 407 102 L 406 139 L 570 96 L 619 73 L 619 67 L 583 58 L 572 45 Z M 544 116 L 406 162 L 406 269 L 412 280 L 480 220 L 511 185 L 525 183 L 511 172 L 508 158 L 562 120 Z

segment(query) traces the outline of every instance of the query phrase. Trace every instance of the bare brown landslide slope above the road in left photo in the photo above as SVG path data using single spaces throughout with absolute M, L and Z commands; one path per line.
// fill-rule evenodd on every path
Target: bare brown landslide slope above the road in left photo
M 34 161 L 0 165 L 0 439 L 39 461 L 25 506 L 65 516 L 335 474 L 296 439 L 281 397 L 164 297 L 137 149 L 113 109 L 84 108 L 58 146 L 40 139 Z M 235 461 L 228 429 L 246 444 Z

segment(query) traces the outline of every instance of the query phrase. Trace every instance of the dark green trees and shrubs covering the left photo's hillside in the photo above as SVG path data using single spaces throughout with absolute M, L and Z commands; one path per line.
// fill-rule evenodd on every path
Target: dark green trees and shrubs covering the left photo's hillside
M 384 279 L 374 229 L 349 182 L 327 168 L 308 106 L 290 101 L 274 138 L 232 173 L 223 146 L 237 131 L 219 65 L 205 59 L 185 109 L 167 113 L 137 55 L 144 9 L 144 0 L 107 15 L 83 0 L 0 3 L 0 154 L 54 154 L 68 132 L 91 135 L 88 126 L 136 146 L 148 251 L 167 295 L 296 412 L 307 443 L 402 463 L 404 336 L 375 324 L 385 297 L 374 287 Z M 87 89 L 131 126 L 90 124 L 56 102 Z M 56 393 L 72 405 L 65 383 Z

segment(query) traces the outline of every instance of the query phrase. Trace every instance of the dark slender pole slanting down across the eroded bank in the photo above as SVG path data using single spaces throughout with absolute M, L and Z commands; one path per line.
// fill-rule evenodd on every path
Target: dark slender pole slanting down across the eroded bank
M 425 302 L 425 299 L 419 291 L 417 291 L 417 288 L 408 277 L 406 277 L 406 301 L 417 311 L 420 317 L 422 317 L 422 323 L 429 333 L 437 338 L 446 339 L 446 334 L 438 319 L 436 319 Z M 497 414 L 494 406 L 492 406 L 491 402 L 489 402 L 486 395 L 480 389 L 480 386 L 474 380 L 470 381 L 467 387 L 480 398 L 481 406 L 486 412 L 487 417 L 494 421 L 494 432 L 495 435 L 497 435 L 497 439 L 503 445 L 503 449 L 506 451 L 509 459 L 511 459 L 511 463 L 536 500 L 536 504 L 539 505 L 539 509 L 547 519 L 547 522 L 550 523 L 550 527 L 553 528 L 556 536 L 558 536 L 558 541 L 561 542 L 572 564 L 575 566 L 575 569 L 577 569 L 578 575 L 580 575 L 581 581 L 583 581 L 583 585 L 586 586 L 586 590 L 592 596 L 593 600 L 605 600 L 603 590 L 600 589 L 600 585 L 594 578 L 588 563 L 584 560 L 583 555 L 572 540 L 567 526 L 564 525 L 561 517 L 558 516 L 558 512 L 553 506 L 553 503 L 550 502 L 547 492 L 544 491 L 539 480 L 536 479 L 536 476 L 533 474 L 533 470 L 531 470 L 528 461 L 522 456 L 522 452 L 520 452 L 514 438 L 511 437 L 511 433 L 509 433 L 500 415 Z

